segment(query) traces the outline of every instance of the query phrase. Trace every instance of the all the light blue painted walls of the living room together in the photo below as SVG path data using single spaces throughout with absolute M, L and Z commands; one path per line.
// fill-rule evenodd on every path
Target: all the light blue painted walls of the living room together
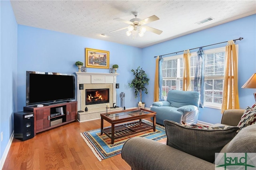
M 12 115 L 16 111 L 22 111 L 26 105 L 26 71 L 74 73 L 78 70 L 74 63 L 78 60 L 85 61 L 84 48 L 86 47 L 110 51 L 110 67 L 113 64 L 119 65 L 118 73 L 120 75 L 117 77 L 117 83 L 120 83 L 120 89 L 117 89 L 117 94 L 125 93 L 126 108 L 137 106 L 138 98 L 134 98 L 134 90 L 128 86 L 128 83 L 133 78 L 130 70 L 136 69 L 138 66 L 142 66 L 150 78 L 150 85 L 147 86 L 148 95 L 143 95 L 143 99 L 146 102 L 146 107 L 150 107 L 152 104 L 155 55 L 183 51 L 184 49 L 243 37 L 244 40 L 236 42 L 239 44 L 239 87 L 247 81 L 252 73 L 256 72 L 256 15 L 141 49 L 17 25 L 10 2 L 0 1 L 0 5 L 0 131 L 3 131 L 4 134 L 4 140 L 0 145 L 1 160 L 13 131 Z M 204 49 L 225 45 L 226 43 L 223 43 Z M 87 72 L 109 73 L 109 70 L 87 68 Z M 252 106 L 254 103 L 252 93 L 255 93 L 255 89 L 239 88 L 240 107 L 242 109 L 246 106 Z M 118 103 L 118 105 L 120 104 Z M 221 114 L 218 109 L 200 109 L 200 121 L 219 123 L 220 118 Z

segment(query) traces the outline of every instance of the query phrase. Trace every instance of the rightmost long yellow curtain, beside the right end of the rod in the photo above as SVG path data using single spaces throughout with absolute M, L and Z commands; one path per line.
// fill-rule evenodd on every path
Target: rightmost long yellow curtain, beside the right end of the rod
M 225 73 L 221 113 L 226 109 L 239 109 L 238 100 L 238 64 L 236 45 L 233 40 L 226 45 Z

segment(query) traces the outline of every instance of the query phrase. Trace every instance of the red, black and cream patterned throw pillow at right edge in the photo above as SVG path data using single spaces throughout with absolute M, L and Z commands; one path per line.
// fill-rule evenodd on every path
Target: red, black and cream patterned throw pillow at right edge
M 240 127 L 240 130 L 242 130 L 242 128 L 254 123 L 256 123 L 256 104 L 252 105 L 252 108 L 247 107 L 245 109 L 244 114 L 242 115 L 237 126 Z

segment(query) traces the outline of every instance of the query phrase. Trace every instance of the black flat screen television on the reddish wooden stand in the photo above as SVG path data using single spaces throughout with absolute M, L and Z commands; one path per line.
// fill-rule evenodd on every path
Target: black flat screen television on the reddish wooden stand
M 26 71 L 26 106 L 52 105 L 74 99 L 74 75 Z

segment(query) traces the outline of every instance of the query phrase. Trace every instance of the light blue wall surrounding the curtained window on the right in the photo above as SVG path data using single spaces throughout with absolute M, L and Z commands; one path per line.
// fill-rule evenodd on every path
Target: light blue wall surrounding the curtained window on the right
M 235 40 L 240 37 L 244 39 L 242 41 L 236 41 L 238 44 L 238 93 L 240 108 L 245 109 L 247 106 L 252 106 L 255 102 L 253 93 L 255 89 L 242 89 L 242 85 L 256 73 L 256 15 L 251 15 L 245 18 L 241 18 L 226 24 L 221 24 L 206 30 L 195 32 L 186 36 L 176 38 L 163 43 L 158 43 L 150 47 L 142 49 L 143 62 L 142 66 L 148 73 L 150 78 L 150 85 L 148 86 L 148 95 L 144 97 L 145 102 L 153 102 L 154 97 L 154 69 L 155 59 L 154 56 L 173 53 L 176 51 L 184 51 L 186 49 L 193 49 L 200 46 L 206 46 L 219 42 L 226 42 L 228 40 Z M 204 47 L 203 49 L 211 49 L 217 47 L 224 47 L 227 43 L 218 45 L 212 45 Z M 198 49 L 190 50 L 195 52 Z M 178 53 L 182 54 L 182 53 Z M 173 54 L 176 55 L 176 54 Z M 168 56 L 168 55 L 166 55 Z M 172 55 L 169 55 L 172 56 Z M 164 56 L 163 56 L 164 57 Z M 145 96 L 145 95 L 144 95 Z M 222 114 L 219 109 L 200 108 L 199 120 L 207 123 L 220 123 Z

